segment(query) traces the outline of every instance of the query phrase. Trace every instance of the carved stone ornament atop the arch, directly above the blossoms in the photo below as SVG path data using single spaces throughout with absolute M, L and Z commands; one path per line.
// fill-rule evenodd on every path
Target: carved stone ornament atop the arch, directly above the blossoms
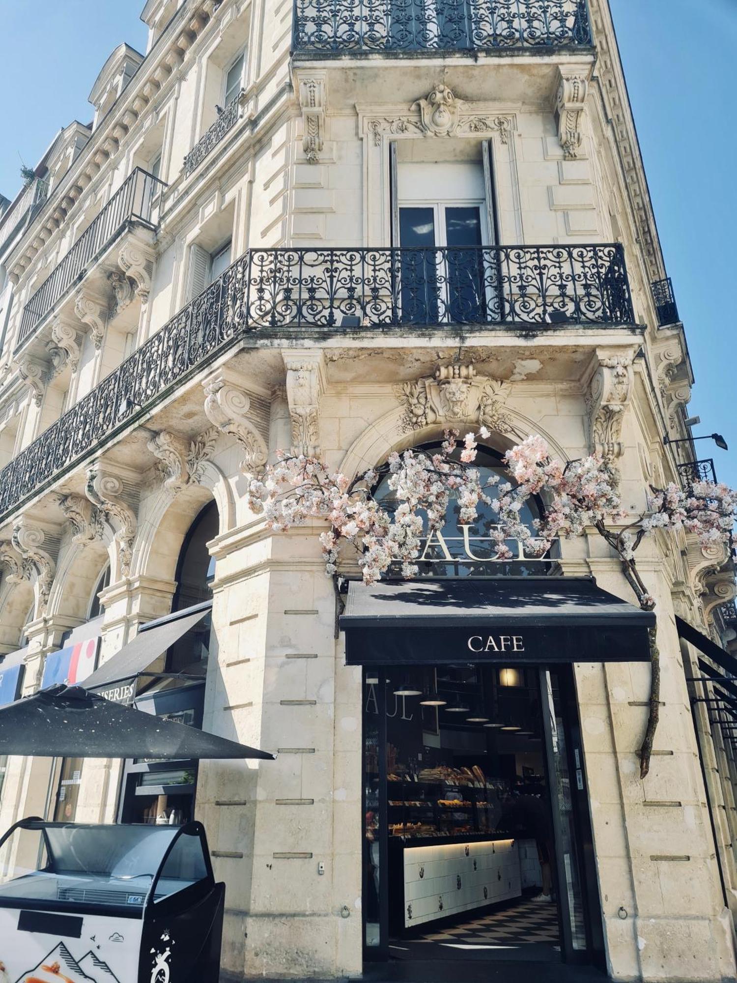
M 473 422 L 506 434 L 511 429 L 504 410 L 508 390 L 506 382 L 477 376 L 473 366 L 451 364 L 438 366 L 433 376 L 404 382 L 396 392 L 405 408 L 407 433 L 432 424 Z

